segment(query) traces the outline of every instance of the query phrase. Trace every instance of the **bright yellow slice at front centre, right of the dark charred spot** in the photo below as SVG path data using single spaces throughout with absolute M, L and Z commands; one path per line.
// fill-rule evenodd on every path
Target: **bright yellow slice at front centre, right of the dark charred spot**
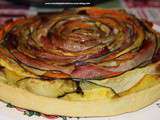
M 73 101 L 88 101 L 100 99 L 110 100 L 111 98 L 117 96 L 117 94 L 111 88 L 96 85 L 87 81 L 81 82 L 80 87 L 83 91 L 83 94 L 69 93 L 61 99 Z

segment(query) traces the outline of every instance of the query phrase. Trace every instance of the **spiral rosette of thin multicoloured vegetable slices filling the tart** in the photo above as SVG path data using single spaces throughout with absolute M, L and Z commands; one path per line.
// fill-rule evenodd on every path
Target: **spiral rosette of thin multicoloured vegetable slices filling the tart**
M 48 97 L 101 88 L 122 93 L 160 73 L 152 26 L 124 10 L 98 8 L 8 21 L 0 30 L 1 77 Z

